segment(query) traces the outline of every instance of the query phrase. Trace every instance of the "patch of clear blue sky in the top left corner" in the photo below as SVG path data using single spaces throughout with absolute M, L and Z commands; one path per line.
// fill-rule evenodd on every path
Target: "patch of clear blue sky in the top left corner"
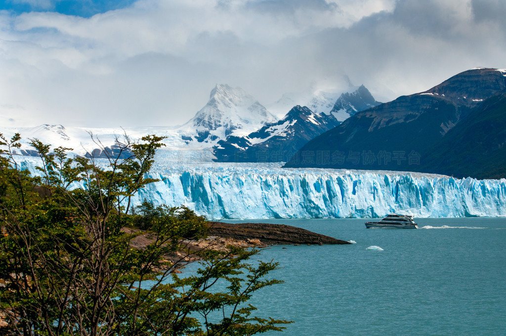
M 128 7 L 134 2 L 135 0 L 4 0 L 0 3 L 0 10 L 16 14 L 57 12 L 88 18 L 98 13 Z

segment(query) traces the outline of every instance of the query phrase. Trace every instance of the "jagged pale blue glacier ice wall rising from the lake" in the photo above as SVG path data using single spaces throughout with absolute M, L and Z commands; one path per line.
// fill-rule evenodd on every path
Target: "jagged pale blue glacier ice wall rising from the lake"
M 23 169 L 35 172 L 36 158 L 20 160 Z M 188 163 L 162 155 L 149 174 L 160 181 L 140 190 L 134 204 L 185 205 L 214 220 L 506 216 L 506 179 L 280 165 Z

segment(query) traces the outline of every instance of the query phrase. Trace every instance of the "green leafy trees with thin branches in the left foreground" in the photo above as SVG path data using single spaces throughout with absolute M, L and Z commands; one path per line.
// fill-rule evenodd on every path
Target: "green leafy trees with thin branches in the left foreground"
M 163 138 L 125 137 L 122 149 L 134 155 L 103 167 L 32 139 L 41 177 L 20 170 L 19 140 L 0 134 L 0 312 L 8 322 L 0 334 L 250 335 L 288 323 L 252 316 L 247 305 L 279 283 L 265 279 L 276 263 L 248 263 L 256 250 L 182 248 L 207 229 L 186 207 L 144 202 L 130 211 L 155 181 L 146 174 Z M 173 271 L 190 255 L 204 266 L 180 278 Z

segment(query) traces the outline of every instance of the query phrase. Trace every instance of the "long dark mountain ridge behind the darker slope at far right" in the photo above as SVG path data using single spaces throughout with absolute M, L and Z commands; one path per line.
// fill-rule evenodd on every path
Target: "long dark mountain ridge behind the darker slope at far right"
M 459 122 L 479 113 L 484 101 L 506 89 L 505 73 L 471 69 L 425 92 L 358 112 L 308 142 L 285 166 L 441 173 L 441 167 L 427 166 L 431 151 Z M 312 160 L 308 153 L 322 153 L 324 159 Z

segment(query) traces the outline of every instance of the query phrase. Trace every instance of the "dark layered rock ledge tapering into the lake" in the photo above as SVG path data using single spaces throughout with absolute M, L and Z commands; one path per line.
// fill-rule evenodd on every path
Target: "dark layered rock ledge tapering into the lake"
M 345 240 L 335 239 L 305 229 L 267 223 L 221 223 L 209 222 L 209 236 L 234 238 L 239 240 L 259 239 L 262 244 L 350 244 Z

